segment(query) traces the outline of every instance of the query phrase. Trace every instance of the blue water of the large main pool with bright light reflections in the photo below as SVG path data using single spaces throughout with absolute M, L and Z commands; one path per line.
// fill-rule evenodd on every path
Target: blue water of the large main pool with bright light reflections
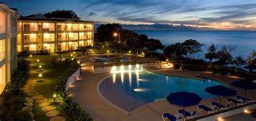
M 112 84 L 117 82 L 122 83 L 122 88 L 128 94 L 146 103 L 165 99 L 171 92 L 178 91 L 194 92 L 202 98 L 213 98 L 216 96 L 204 91 L 206 87 L 217 86 L 219 84 L 226 86 L 226 84 L 219 81 L 208 79 L 203 81 L 188 77 L 157 74 L 136 69 L 136 67 L 132 67 L 130 70 L 113 72 L 104 81 L 105 83 L 112 81 Z

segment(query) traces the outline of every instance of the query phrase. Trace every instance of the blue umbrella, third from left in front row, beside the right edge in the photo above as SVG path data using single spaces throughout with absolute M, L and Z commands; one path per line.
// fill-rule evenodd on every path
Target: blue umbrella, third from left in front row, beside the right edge
M 247 89 L 256 89 L 255 83 L 251 81 L 233 81 L 231 84 L 235 87 L 245 89 L 245 98 Z

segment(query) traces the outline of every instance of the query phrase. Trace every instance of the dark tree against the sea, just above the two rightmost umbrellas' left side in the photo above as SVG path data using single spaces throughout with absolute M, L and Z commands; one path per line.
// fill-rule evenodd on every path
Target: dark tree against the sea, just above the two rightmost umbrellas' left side
M 233 46 L 222 46 L 221 49 L 217 52 L 218 59 L 221 61 L 232 61 L 231 52 L 235 51 Z

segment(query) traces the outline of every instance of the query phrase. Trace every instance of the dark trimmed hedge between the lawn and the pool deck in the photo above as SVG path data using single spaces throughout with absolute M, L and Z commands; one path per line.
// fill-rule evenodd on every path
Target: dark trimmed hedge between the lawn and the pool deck
M 68 91 L 65 90 L 66 81 L 79 68 L 79 64 L 76 60 L 68 59 L 66 62 L 69 63 L 69 68 L 65 73 L 58 77 L 56 88 L 54 90 L 57 101 L 73 120 L 92 121 L 93 119 L 90 117 L 89 113 L 85 112 L 78 103 L 72 101 L 72 97 L 70 97 Z

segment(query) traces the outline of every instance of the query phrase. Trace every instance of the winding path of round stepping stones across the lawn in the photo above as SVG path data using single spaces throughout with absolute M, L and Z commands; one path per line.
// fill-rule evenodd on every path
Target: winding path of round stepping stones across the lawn
M 33 60 L 31 61 L 32 63 Z M 35 65 L 38 66 L 38 65 Z M 23 91 L 28 95 L 28 97 L 35 100 L 36 104 L 38 104 L 40 107 L 42 107 L 42 111 L 46 112 L 45 116 L 52 117 L 50 121 L 65 121 L 66 118 L 59 115 L 59 111 L 55 110 L 56 107 L 53 105 L 50 105 L 51 103 L 48 102 L 48 99 L 45 98 L 43 95 L 39 95 L 39 92 L 35 89 L 35 84 L 37 84 L 37 72 L 32 72 L 32 68 L 35 68 L 35 66 L 30 67 L 29 71 L 29 80 L 26 82 L 26 85 L 23 88 Z M 32 108 L 31 108 L 32 110 Z M 43 118 L 43 117 L 40 117 Z

